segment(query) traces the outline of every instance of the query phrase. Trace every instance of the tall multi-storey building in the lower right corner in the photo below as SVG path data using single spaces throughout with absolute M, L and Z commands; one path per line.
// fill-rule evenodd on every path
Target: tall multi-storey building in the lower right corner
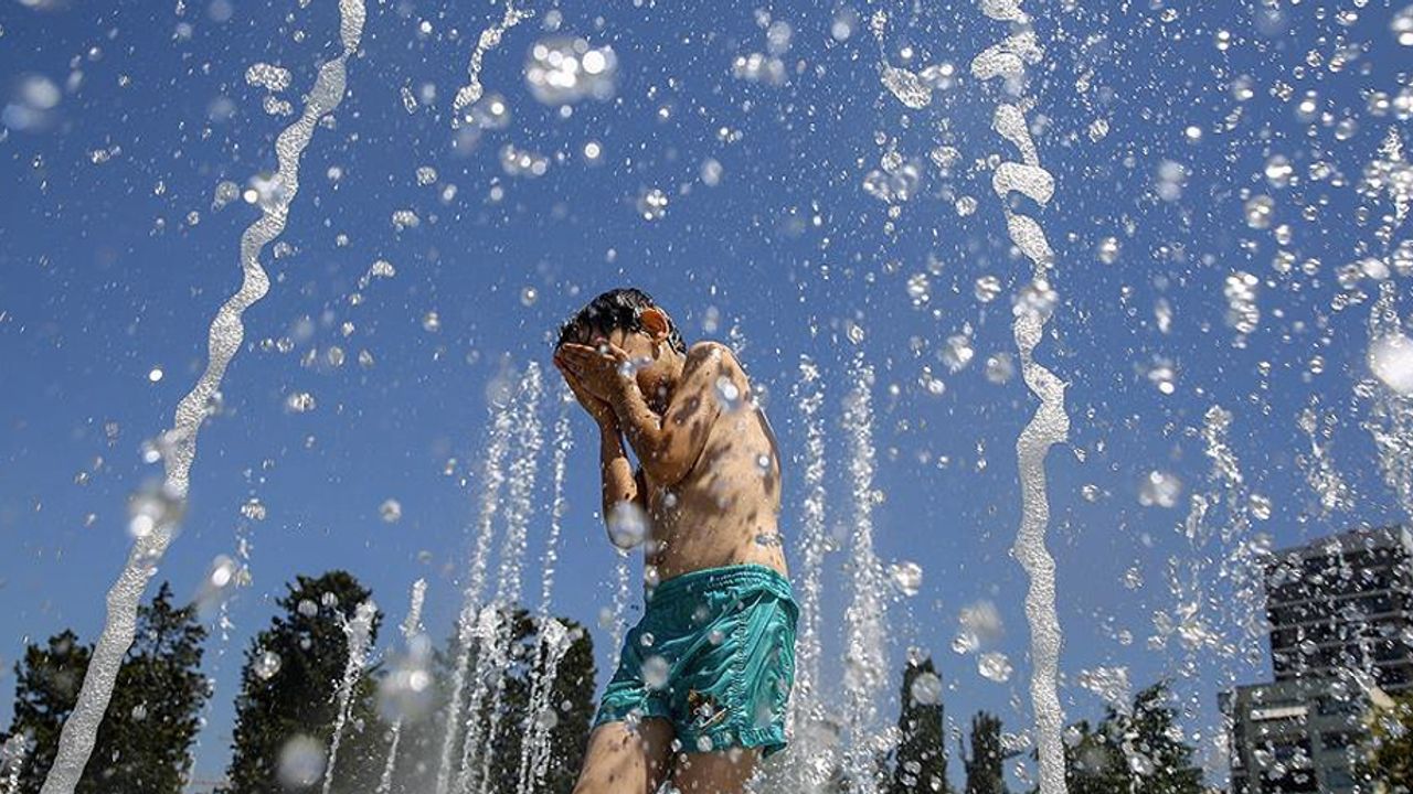
M 1275 682 L 1219 701 L 1232 794 L 1361 794 L 1368 701 L 1413 688 L 1413 534 L 1355 530 L 1277 551 L 1265 585 Z

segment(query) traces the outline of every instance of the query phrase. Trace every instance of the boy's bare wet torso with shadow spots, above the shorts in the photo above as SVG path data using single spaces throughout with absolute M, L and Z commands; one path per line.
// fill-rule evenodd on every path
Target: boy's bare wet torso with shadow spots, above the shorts
M 722 408 L 685 478 L 670 489 L 647 485 L 647 565 L 658 581 L 745 562 L 786 572 L 780 455 L 766 415 L 749 400 Z

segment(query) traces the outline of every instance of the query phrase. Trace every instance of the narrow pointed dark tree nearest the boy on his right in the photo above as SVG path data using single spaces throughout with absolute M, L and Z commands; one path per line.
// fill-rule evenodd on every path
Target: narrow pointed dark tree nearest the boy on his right
M 893 753 L 889 794 L 951 791 L 947 783 L 941 682 L 931 657 L 909 660 L 903 670 L 897 716 L 900 739 Z

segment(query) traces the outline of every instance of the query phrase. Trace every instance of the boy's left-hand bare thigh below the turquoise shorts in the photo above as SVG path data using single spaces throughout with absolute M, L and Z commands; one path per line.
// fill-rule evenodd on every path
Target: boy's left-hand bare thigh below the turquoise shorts
M 667 777 L 673 723 L 640 719 L 636 728 L 605 722 L 589 733 L 574 794 L 654 794 Z

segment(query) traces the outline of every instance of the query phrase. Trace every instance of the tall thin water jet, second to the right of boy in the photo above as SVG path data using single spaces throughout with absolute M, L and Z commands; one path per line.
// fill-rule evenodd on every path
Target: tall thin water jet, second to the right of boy
M 877 704 L 887 685 L 887 615 L 883 600 L 883 567 L 873 552 L 873 367 L 862 352 L 849 367 L 853 391 L 848 397 L 844 425 L 849 435 L 849 479 L 853 494 L 853 537 L 849 559 L 852 600 L 844 613 L 845 675 L 844 712 L 849 729 L 849 749 L 844 771 L 851 791 L 873 794 L 876 757 L 886 747 L 886 732 L 879 732 Z

